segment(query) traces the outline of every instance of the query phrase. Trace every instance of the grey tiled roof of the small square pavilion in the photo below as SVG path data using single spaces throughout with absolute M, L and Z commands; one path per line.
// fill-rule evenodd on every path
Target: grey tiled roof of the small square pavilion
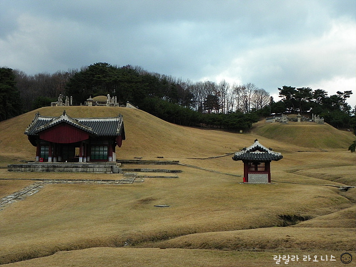
M 260 144 L 256 139 L 255 143 L 249 147 L 245 147 L 240 152 L 236 152 L 232 157 L 233 160 L 238 161 L 255 161 L 255 162 L 267 162 L 277 161 L 282 159 L 283 156 L 279 152 L 272 151 L 271 148 L 267 148 Z

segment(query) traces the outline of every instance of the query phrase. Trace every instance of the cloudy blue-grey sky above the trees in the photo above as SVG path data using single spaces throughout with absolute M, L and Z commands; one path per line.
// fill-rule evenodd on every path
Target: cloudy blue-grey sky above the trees
M 0 66 L 96 62 L 183 80 L 353 90 L 356 0 L 0 0 Z

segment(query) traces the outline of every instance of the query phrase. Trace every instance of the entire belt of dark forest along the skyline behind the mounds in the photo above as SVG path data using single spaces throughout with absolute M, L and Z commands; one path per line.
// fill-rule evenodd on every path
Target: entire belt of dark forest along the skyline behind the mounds
M 322 89 L 283 86 L 279 89 L 282 99 L 275 101 L 252 83 L 183 81 L 137 66 L 101 62 L 81 70 L 33 76 L 8 68 L 0 71 L 0 121 L 48 106 L 59 94 L 72 96 L 75 105 L 89 96 L 110 94 L 119 104 L 130 101 L 154 116 L 185 126 L 248 130 L 260 117 L 286 112 L 318 114 L 336 128 L 356 124 L 355 109 L 347 103 L 352 91 L 328 96 Z

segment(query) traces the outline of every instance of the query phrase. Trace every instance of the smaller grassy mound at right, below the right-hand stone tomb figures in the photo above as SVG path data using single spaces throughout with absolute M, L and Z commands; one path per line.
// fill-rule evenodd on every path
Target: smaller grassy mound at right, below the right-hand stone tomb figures
M 355 140 L 352 133 L 339 131 L 329 124 L 279 124 L 260 121 L 253 133 L 302 147 L 348 148 Z

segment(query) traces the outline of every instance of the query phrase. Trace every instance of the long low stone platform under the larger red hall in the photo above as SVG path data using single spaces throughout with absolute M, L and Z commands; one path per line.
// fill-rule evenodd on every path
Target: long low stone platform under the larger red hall
M 50 163 L 29 162 L 24 164 L 9 164 L 9 172 L 84 172 L 100 174 L 119 174 L 122 169 L 118 162 L 95 162 L 95 163 Z

